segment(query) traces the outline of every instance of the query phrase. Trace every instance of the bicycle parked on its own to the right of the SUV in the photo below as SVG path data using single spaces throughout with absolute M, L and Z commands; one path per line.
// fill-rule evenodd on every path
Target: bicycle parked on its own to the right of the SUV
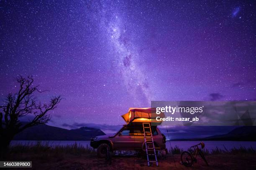
M 201 158 L 205 161 L 206 165 L 209 166 L 209 164 L 207 163 L 207 160 L 205 159 L 204 154 L 198 147 L 199 145 L 201 145 L 201 149 L 205 148 L 205 144 L 201 142 L 197 145 L 191 146 L 188 149 L 188 151 L 184 151 L 181 154 L 182 165 L 184 165 L 186 167 L 191 167 L 194 162 L 197 163 L 197 154 L 199 154 L 201 156 Z

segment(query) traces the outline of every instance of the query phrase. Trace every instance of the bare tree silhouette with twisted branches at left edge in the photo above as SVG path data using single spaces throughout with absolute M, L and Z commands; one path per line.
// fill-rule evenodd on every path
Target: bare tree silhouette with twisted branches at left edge
M 9 93 L 0 106 L 0 158 L 3 158 L 8 151 L 10 141 L 21 131 L 38 124 L 45 124 L 50 120 L 49 110 L 54 110 L 61 101 L 61 96 L 52 97 L 48 104 L 37 101 L 33 95 L 38 90 L 38 85 L 33 86 L 33 76 L 16 78 L 20 84 L 19 91 L 15 94 Z M 42 91 L 44 92 L 44 91 Z M 20 117 L 33 115 L 33 120 L 20 122 Z

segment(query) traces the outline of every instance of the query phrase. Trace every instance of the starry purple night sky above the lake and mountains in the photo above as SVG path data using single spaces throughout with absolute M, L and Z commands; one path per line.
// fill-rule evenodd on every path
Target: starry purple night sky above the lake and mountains
M 50 125 L 125 122 L 151 100 L 255 100 L 256 2 L 0 1 L 0 98 L 64 100 Z M 16 87 L 17 86 L 17 87 Z

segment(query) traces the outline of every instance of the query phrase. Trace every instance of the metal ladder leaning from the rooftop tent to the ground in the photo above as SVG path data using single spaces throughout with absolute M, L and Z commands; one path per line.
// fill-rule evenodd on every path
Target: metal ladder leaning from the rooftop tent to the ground
M 150 123 L 143 122 L 142 125 L 143 125 L 143 131 L 144 131 L 144 142 L 145 142 L 148 166 L 150 166 L 150 163 L 156 163 L 156 166 L 158 166 L 158 162 L 156 158 L 156 148 L 154 145 Z M 148 133 L 150 133 L 150 136 L 147 135 Z M 148 140 L 146 138 L 148 138 Z M 153 148 L 148 148 L 148 144 L 152 144 Z M 154 154 L 148 154 L 148 150 L 154 150 Z M 155 160 L 149 160 L 149 155 L 154 155 Z

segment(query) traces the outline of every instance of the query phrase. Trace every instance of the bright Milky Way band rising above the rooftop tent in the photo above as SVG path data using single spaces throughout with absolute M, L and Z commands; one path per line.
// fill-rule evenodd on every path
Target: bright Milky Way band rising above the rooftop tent
M 109 34 L 107 38 L 110 38 L 110 46 L 113 45 L 114 52 L 110 52 L 110 56 L 115 56 L 117 62 L 116 67 L 120 70 L 123 83 L 126 86 L 126 90 L 135 99 L 134 105 L 141 105 L 145 103 L 150 105 L 151 94 L 148 87 L 148 80 L 143 73 L 143 65 L 138 65 L 140 58 L 136 51 L 136 43 L 132 43 L 131 35 L 126 33 L 125 26 L 122 25 L 123 21 L 118 15 L 113 16 L 106 27 Z

